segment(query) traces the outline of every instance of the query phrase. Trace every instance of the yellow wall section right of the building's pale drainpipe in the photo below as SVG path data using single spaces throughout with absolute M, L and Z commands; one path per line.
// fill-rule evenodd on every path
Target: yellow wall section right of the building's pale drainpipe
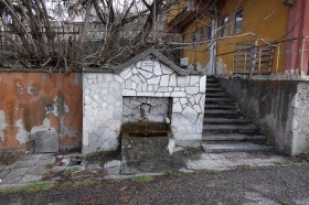
M 264 41 L 274 42 L 283 41 L 286 39 L 288 32 L 288 18 L 289 7 L 283 4 L 283 0 L 225 0 L 221 1 L 221 15 L 228 15 L 230 21 L 234 18 L 236 9 L 243 8 L 243 29 L 241 32 L 232 34 L 231 22 L 227 26 L 227 36 L 217 41 L 217 56 L 216 61 L 222 61 L 226 64 L 228 73 L 233 71 L 233 52 L 236 48 L 235 43 L 251 39 L 255 39 L 255 35 L 260 36 L 259 44 L 264 44 Z M 220 19 L 220 18 L 219 18 Z M 220 32 L 219 32 L 220 33 Z M 217 34 L 219 35 L 219 34 Z M 231 37 L 232 35 L 232 37 Z M 243 36 L 237 36 L 243 35 Z M 265 39 L 264 39 L 265 37 Z M 285 71 L 285 50 L 279 55 L 277 73 L 284 73 Z M 277 67 L 277 48 L 273 61 L 271 73 L 276 73 Z

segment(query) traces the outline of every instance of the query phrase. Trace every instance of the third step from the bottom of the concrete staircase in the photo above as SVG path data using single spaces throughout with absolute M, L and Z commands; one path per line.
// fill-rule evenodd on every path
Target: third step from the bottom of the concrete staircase
M 254 125 L 204 125 L 204 133 L 255 133 L 257 132 L 257 127 Z

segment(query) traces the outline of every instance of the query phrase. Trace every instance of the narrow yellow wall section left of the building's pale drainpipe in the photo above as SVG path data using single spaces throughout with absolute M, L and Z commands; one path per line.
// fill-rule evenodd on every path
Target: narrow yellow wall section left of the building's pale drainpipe
M 196 42 L 199 41 L 199 30 L 204 29 L 203 41 L 207 41 L 207 26 L 211 25 L 210 18 L 199 18 L 191 23 L 183 33 L 183 40 L 185 43 L 192 43 L 192 34 L 195 34 Z M 184 44 L 185 48 L 182 52 L 183 57 L 189 57 L 189 65 L 199 62 L 202 67 L 206 67 L 210 62 L 210 43 L 204 42 L 202 44 Z

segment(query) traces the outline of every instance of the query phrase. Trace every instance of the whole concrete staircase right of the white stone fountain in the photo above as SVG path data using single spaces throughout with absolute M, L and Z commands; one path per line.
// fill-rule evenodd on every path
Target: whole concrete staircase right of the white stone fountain
M 266 137 L 243 115 L 216 78 L 207 77 L 203 127 L 205 152 L 269 151 Z

